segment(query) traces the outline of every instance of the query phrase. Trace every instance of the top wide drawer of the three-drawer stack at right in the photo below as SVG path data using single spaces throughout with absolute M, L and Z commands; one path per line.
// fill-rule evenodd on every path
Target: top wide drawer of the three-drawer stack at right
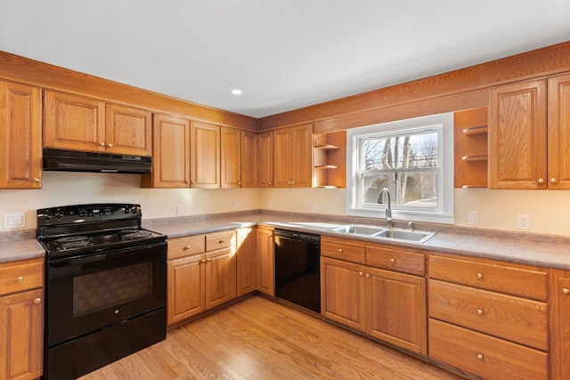
M 481 263 L 429 255 L 428 272 L 431 279 L 443 279 L 534 300 L 546 301 L 548 293 L 546 271 L 518 268 L 508 263 Z

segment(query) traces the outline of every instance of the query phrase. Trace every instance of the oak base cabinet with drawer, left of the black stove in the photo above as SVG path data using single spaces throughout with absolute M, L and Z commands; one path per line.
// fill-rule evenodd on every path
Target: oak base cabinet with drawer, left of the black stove
M 0 379 L 43 374 L 44 260 L 0 263 Z

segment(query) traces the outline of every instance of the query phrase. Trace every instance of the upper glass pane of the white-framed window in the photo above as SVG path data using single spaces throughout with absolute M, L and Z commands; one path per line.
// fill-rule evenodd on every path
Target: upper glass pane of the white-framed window
M 362 170 L 437 167 L 437 133 L 372 137 L 362 141 Z

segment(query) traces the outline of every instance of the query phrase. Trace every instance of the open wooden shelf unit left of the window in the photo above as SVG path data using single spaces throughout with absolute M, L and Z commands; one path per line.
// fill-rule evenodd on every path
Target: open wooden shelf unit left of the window
M 346 131 L 314 135 L 313 187 L 346 187 Z

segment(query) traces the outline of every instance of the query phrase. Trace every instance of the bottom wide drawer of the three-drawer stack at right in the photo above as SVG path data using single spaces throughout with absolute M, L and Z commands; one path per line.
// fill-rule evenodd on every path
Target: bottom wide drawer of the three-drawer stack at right
M 429 319 L 429 357 L 485 379 L 548 378 L 548 355 Z

